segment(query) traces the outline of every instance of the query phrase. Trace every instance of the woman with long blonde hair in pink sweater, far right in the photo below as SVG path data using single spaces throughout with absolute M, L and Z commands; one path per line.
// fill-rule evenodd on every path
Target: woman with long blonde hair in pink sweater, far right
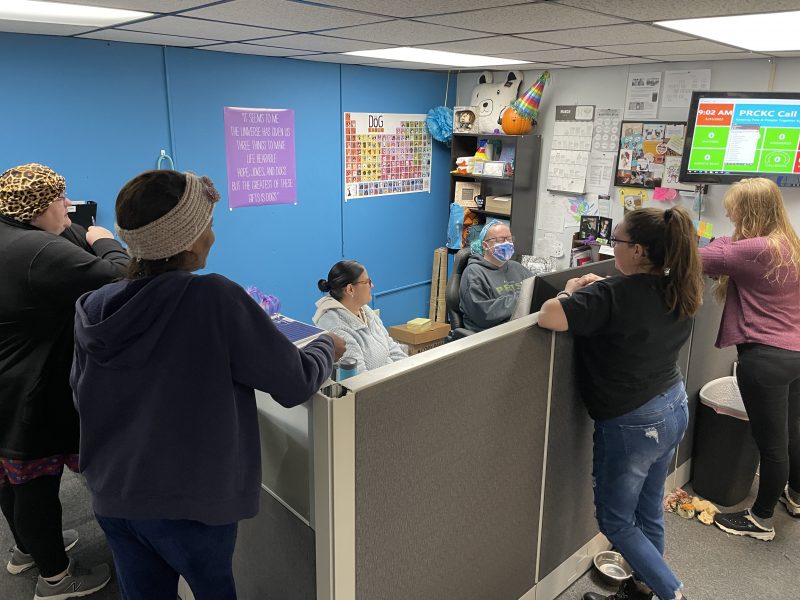
M 738 350 L 736 377 L 761 476 L 752 508 L 717 514 L 714 522 L 771 540 L 779 500 L 800 517 L 800 239 L 769 179 L 733 184 L 723 204 L 733 235 L 716 238 L 700 256 L 706 275 L 719 278 L 715 294 L 725 308 L 716 345 Z

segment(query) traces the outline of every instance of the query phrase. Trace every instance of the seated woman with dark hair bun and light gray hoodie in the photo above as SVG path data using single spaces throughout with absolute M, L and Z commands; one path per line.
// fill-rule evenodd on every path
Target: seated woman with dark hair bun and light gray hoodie
M 344 338 L 347 350 L 342 358 L 354 358 L 358 373 L 408 356 L 368 306 L 372 286 L 364 265 L 354 260 L 339 261 L 331 267 L 328 279 L 317 283 L 328 295 L 317 300 L 314 323 Z

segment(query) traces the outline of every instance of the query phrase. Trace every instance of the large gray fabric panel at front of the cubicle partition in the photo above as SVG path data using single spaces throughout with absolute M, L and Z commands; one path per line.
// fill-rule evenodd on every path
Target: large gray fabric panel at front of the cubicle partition
M 356 392 L 358 600 L 533 587 L 550 338 L 518 330 Z

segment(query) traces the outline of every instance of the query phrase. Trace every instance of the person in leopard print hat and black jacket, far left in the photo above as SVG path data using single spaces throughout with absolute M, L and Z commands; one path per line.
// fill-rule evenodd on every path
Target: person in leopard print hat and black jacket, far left
M 39 567 L 36 596 L 90 591 L 109 568 L 76 567 L 61 531 L 64 465 L 77 469 L 78 415 L 72 404 L 75 301 L 124 275 L 128 255 L 113 235 L 70 230 L 66 182 L 40 164 L 0 174 L 0 507 L 14 536 L 12 574 Z M 72 233 L 70 237 L 64 233 Z M 66 547 L 66 548 L 65 548 Z

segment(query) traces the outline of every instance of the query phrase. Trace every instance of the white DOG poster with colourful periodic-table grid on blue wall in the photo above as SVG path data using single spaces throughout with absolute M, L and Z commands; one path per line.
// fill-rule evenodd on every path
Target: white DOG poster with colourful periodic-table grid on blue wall
M 425 115 L 344 113 L 344 199 L 431 191 Z

